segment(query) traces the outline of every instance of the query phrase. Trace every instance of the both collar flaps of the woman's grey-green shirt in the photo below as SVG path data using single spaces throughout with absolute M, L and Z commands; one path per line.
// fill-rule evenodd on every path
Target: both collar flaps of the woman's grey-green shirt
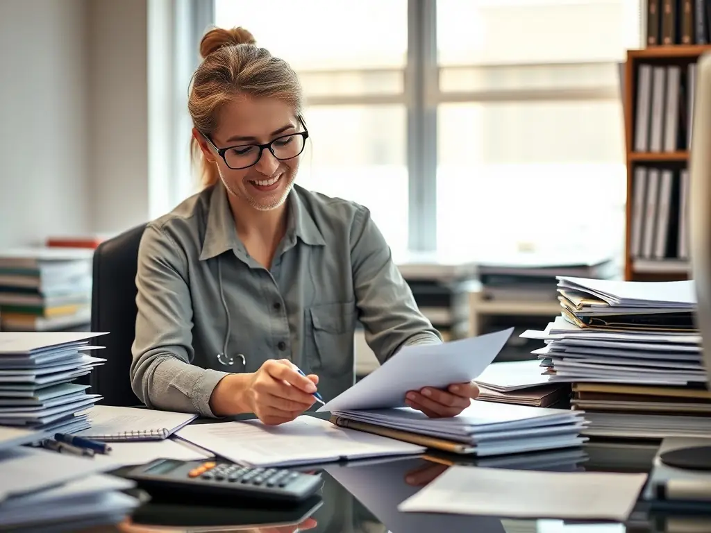
M 296 186 L 289 193 L 287 201 L 289 202 L 287 235 L 293 232 L 294 236 L 299 237 L 306 244 L 324 246 L 326 244 L 324 236 L 306 209 L 304 200 L 300 197 Z M 210 210 L 200 260 L 216 257 L 230 249 L 242 250 L 243 245 L 237 237 L 235 219 L 232 217 L 227 191 L 218 183 L 213 185 L 213 192 L 210 195 Z

